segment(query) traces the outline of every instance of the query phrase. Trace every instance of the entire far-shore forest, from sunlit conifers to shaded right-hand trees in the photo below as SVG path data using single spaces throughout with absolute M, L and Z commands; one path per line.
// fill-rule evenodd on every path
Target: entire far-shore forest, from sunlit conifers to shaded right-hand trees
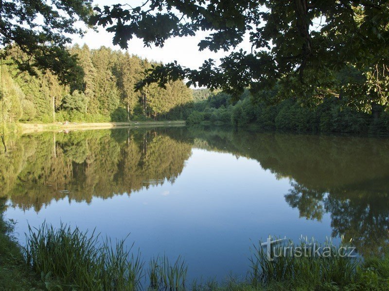
M 337 73 L 334 90 L 312 93 L 305 102 L 290 93 L 280 80 L 270 89 L 253 92 L 247 88 L 238 97 L 219 89 L 190 89 L 183 81 L 136 85 L 155 62 L 105 47 L 89 49 L 75 45 L 69 50 L 84 71 L 82 88 L 62 84 L 50 71 L 31 74 L 21 71 L 18 59 L 26 56 L 9 48 L 2 65 L 4 98 L 0 112 L 12 129 L 18 122 L 108 122 L 129 120 L 185 119 L 189 125 L 216 124 L 253 126 L 313 132 L 389 132 L 387 105 L 370 102 L 362 91 L 342 91 L 344 84 L 364 86 L 366 76 L 354 68 Z M 305 93 L 301 93 L 306 95 Z M 357 102 L 359 100 L 359 102 Z

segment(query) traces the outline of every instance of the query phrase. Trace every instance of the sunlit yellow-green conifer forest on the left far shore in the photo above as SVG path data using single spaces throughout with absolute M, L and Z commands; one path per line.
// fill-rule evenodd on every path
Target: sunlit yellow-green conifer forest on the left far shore
M 191 90 L 182 81 L 171 81 L 165 89 L 151 84 L 135 92 L 135 84 L 153 62 L 127 52 L 86 45 L 70 48 L 84 71 L 82 88 L 73 90 L 48 70 L 35 75 L 20 71 L 15 60 L 27 56 L 17 47 L 8 50 L 10 56 L 2 65 L 4 108 L 0 113 L 7 124 L 178 119 L 169 116 L 169 111 L 192 101 Z

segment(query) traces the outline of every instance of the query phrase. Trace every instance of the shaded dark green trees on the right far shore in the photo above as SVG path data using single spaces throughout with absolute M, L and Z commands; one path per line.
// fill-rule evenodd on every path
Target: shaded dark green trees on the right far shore
M 246 90 L 236 101 L 224 92 L 200 91 L 194 94 L 201 97 L 197 97 L 187 123 L 299 132 L 389 133 L 389 112 L 384 106 L 375 105 L 375 112 L 362 110 L 339 97 L 327 97 L 310 106 L 296 98 L 277 100 L 282 93 L 275 88 L 259 92 L 258 97 Z

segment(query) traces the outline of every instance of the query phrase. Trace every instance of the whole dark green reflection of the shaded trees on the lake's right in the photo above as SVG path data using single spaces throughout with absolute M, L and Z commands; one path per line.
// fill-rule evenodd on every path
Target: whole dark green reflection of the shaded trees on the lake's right
M 256 159 L 289 178 L 285 201 L 300 217 L 331 215 L 333 236 L 361 253 L 389 247 L 389 140 L 243 131 L 193 130 L 197 146 Z M 206 142 L 206 144 L 204 144 Z

